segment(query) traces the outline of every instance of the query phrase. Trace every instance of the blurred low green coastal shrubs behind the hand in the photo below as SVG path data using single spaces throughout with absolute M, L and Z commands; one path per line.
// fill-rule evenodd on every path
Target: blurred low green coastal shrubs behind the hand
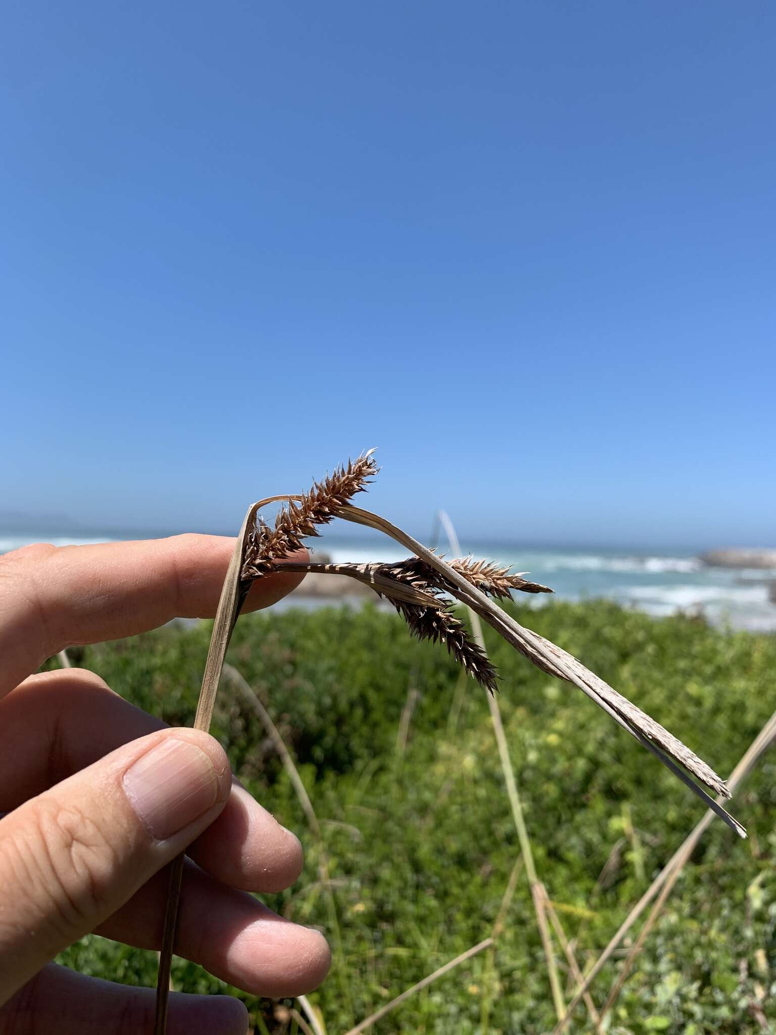
M 776 711 L 776 637 L 715 630 L 685 616 L 655 620 L 604 601 L 511 611 L 722 775 Z M 71 660 L 139 707 L 190 724 L 211 625 L 73 649 Z M 489 629 L 485 637 L 536 867 L 585 970 L 703 806 L 577 689 Z M 345 1035 L 491 933 L 519 847 L 484 691 L 443 647 L 410 640 L 397 616 L 371 604 L 245 616 L 228 661 L 274 719 L 320 821 L 319 840 L 264 726 L 222 680 L 213 733 L 234 771 L 305 849 L 299 882 L 264 900 L 326 933 L 334 963 L 309 1001 L 327 1035 Z M 699 1035 L 776 1025 L 775 777 L 776 752 L 766 753 L 734 799 L 747 840 L 716 820 L 705 834 L 636 957 L 608 1031 Z M 637 931 L 638 924 L 629 943 Z M 592 987 L 598 1007 L 629 943 Z M 568 1001 L 574 981 L 558 957 Z M 61 960 L 112 980 L 155 983 L 155 953 L 95 936 Z M 301 1030 L 292 1001 L 244 996 L 178 958 L 173 981 L 178 990 L 239 995 L 258 1032 Z M 549 1031 L 555 1019 L 521 870 L 494 948 L 372 1030 L 514 1035 Z M 569 1030 L 592 1030 L 583 1005 Z

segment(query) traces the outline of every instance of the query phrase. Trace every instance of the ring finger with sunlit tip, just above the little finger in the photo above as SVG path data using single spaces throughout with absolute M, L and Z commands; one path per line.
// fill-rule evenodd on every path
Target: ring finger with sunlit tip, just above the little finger
M 161 945 L 167 871 L 149 881 L 97 933 L 143 949 Z M 175 951 L 255 996 L 300 996 L 321 984 L 331 964 L 325 938 L 228 888 L 191 862 L 181 886 Z

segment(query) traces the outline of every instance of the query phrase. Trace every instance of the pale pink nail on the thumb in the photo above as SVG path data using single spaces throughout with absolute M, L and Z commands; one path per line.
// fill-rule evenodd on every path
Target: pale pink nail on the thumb
M 165 840 L 212 808 L 218 777 L 196 744 L 168 737 L 127 769 L 124 792 L 151 834 Z

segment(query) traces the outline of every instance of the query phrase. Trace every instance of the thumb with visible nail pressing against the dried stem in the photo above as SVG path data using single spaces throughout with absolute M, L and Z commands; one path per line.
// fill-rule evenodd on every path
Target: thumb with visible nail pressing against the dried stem
M 212 737 L 163 730 L 0 820 L 0 1003 L 199 836 L 231 785 Z

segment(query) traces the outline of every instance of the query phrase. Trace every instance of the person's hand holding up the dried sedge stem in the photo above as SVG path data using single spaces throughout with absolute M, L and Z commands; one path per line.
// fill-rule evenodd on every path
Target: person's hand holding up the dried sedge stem
M 1 1032 L 151 1032 L 153 989 L 51 959 L 88 931 L 158 949 L 159 870 L 186 848 L 176 952 L 255 995 L 299 995 L 326 976 L 323 937 L 245 893 L 288 887 L 302 852 L 233 780 L 219 744 L 166 728 L 91 673 L 30 675 L 66 646 L 213 615 L 233 544 L 184 535 L 0 557 Z M 246 608 L 299 581 L 262 580 Z M 246 1029 L 237 1000 L 171 996 L 170 1035 Z

